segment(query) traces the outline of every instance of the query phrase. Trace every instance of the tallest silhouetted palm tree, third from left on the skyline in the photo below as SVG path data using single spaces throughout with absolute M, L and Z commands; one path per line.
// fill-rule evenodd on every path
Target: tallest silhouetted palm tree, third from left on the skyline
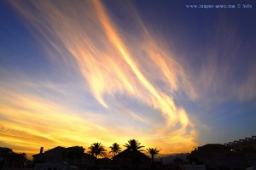
M 137 163 L 139 161 L 137 160 L 137 153 L 144 151 L 142 148 L 145 146 L 141 146 L 141 143 L 136 139 L 130 139 L 128 144 L 125 144 L 124 146 L 127 148 L 127 150 L 131 150 L 133 169 L 137 169 Z

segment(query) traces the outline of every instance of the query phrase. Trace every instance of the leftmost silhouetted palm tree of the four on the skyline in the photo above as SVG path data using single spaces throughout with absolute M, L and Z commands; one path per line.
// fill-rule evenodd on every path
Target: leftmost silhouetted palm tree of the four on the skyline
M 90 155 L 92 156 L 95 156 L 96 158 L 96 164 L 97 164 L 97 159 L 98 159 L 98 156 L 107 156 L 106 154 L 106 151 L 105 150 L 105 146 L 103 146 L 101 143 L 93 143 L 90 145 L 90 147 L 88 148 L 89 151 L 87 153 L 89 153 Z

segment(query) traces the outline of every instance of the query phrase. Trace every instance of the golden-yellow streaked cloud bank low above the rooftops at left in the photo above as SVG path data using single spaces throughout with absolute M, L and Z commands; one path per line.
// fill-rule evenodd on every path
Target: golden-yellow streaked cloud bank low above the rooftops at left
M 55 104 L 32 94 L 20 93 L 1 87 L 1 139 L 14 150 L 38 152 L 40 146 L 53 148 L 57 145 L 90 145 L 93 134 L 109 133 L 111 129 L 96 124 L 94 120 L 81 118 L 79 112 L 64 105 Z M 87 113 L 90 115 L 90 113 Z M 94 114 L 95 115 L 95 114 Z M 113 138 L 111 134 L 108 138 Z M 29 147 L 28 147 L 29 145 Z

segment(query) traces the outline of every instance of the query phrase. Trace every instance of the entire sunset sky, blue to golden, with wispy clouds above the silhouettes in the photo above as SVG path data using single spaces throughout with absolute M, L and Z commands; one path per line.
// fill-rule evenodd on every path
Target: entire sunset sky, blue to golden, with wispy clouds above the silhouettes
M 186 7 L 233 3 L 253 8 Z M 138 139 L 163 156 L 255 135 L 255 5 L 1 1 L 0 146 Z

